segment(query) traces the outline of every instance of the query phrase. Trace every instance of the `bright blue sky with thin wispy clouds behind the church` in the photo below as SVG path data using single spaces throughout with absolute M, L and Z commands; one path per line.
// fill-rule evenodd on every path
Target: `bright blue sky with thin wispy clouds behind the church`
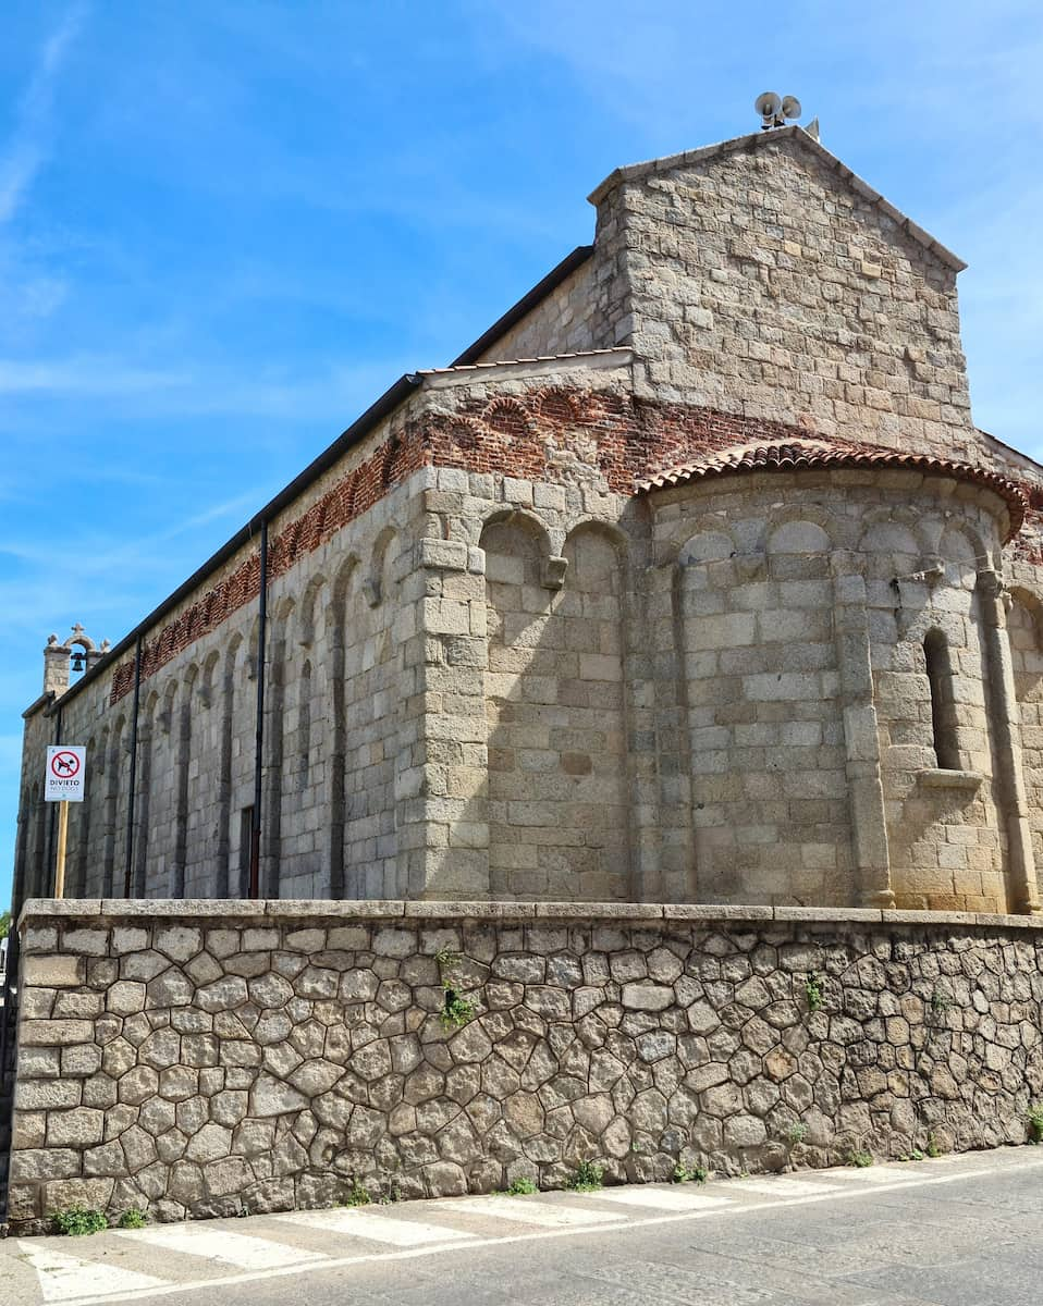
M 0 902 L 47 635 L 115 643 L 761 90 L 970 263 L 975 418 L 1043 457 L 1040 67 L 1036 0 L 7 0 Z

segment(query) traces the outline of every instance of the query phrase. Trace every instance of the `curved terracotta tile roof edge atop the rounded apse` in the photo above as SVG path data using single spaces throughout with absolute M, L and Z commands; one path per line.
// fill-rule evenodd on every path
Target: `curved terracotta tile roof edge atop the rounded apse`
M 970 481 L 985 486 L 999 495 L 1010 513 L 1008 539 L 1018 533 L 1025 520 L 1027 500 L 1025 494 L 997 471 L 976 468 L 970 462 L 952 462 L 929 453 L 899 453 L 868 444 L 826 444 L 823 440 L 774 440 L 759 444 L 736 445 L 708 454 L 694 462 L 656 471 L 638 481 L 638 490 L 670 490 L 694 481 L 714 477 L 741 475 L 753 471 L 801 471 L 818 468 L 907 468 Z

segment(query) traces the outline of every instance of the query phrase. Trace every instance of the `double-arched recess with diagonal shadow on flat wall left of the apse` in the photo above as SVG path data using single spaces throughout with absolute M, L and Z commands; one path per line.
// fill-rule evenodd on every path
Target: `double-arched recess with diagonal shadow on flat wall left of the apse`
M 499 513 L 485 550 L 489 883 L 494 897 L 630 896 L 620 542 L 583 524 L 563 586 L 545 585 L 550 541 Z

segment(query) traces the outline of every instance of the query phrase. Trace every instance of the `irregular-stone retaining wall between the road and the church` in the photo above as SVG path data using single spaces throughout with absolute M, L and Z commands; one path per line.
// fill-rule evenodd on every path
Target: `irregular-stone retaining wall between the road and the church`
M 1019 917 L 30 901 L 21 931 L 24 1232 L 993 1147 L 1043 1097 Z

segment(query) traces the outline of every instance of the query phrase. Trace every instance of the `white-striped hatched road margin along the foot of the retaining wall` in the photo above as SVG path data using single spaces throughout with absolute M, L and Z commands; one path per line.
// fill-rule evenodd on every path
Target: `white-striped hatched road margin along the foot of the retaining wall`
M 259 1216 L 247 1225 L 218 1220 L 111 1229 L 72 1243 L 12 1238 L 0 1242 L 0 1303 L 8 1306 L 10 1298 L 10 1306 L 162 1306 L 170 1296 L 180 1299 L 184 1293 L 222 1284 L 244 1286 L 286 1279 L 288 1285 L 295 1285 L 308 1271 L 346 1271 L 378 1262 L 439 1258 L 495 1245 L 538 1245 L 542 1239 L 592 1237 L 609 1230 L 614 1235 L 617 1230 L 660 1229 L 689 1220 L 727 1221 L 732 1215 L 772 1205 L 843 1205 L 864 1198 L 870 1188 L 907 1191 L 996 1171 L 978 1158 L 958 1160 L 966 1165 L 949 1165 L 941 1174 L 936 1162 L 891 1162 L 731 1179 L 708 1191 L 697 1185 L 664 1183 L 519 1198 L 472 1195 L 403 1205 L 393 1215 L 386 1207 L 336 1208 Z M 1025 1169 L 1043 1170 L 1043 1160 L 1031 1158 Z M 252 1233 L 242 1233 L 243 1228 Z M 69 1246 L 74 1254 L 65 1250 Z M 161 1269 L 163 1277 L 148 1272 L 153 1268 Z M 294 1289 L 288 1292 L 293 1296 Z

